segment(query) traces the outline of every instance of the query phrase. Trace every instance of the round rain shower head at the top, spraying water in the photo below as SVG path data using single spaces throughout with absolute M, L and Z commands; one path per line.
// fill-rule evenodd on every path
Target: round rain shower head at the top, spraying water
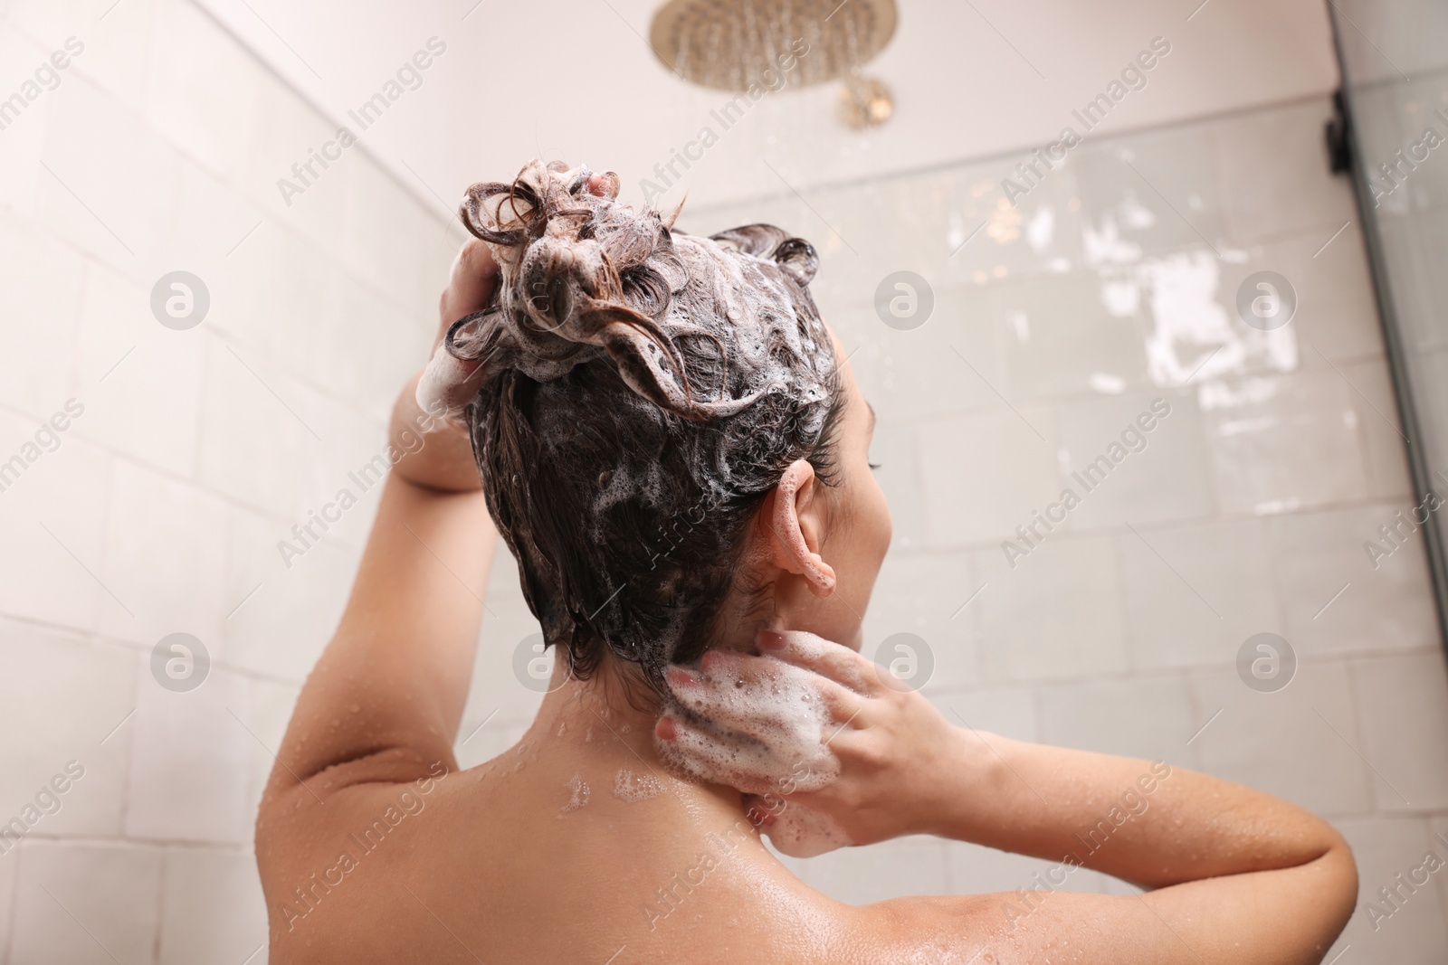
M 688 81 L 725 91 L 840 80 L 895 33 L 895 0 L 668 0 L 649 42 Z M 788 65 L 788 67 L 786 67 Z

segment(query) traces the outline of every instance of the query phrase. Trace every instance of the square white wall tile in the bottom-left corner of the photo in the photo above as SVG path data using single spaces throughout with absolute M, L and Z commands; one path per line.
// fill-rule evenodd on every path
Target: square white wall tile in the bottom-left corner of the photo
M 161 851 L 26 842 L 14 894 L 12 962 L 149 962 L 156 945 Z

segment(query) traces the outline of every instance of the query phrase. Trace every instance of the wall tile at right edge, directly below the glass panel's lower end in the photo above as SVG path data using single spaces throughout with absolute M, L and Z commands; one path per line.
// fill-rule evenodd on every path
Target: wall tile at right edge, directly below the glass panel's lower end
M 1351 667 L 1377 809 L 1448 810 L 1448 674 L 1442 654 L 1357 660 Z

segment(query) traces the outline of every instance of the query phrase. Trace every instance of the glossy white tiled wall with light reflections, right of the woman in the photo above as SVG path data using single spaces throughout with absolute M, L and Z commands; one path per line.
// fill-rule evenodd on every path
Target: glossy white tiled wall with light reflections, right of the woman
M 821 242 L 820 304 L 880 412 L 872 456 L 896 524 L 867 645 L 922 637 L 927 693 L 953 720 L 1261 787 L 1337 819 L 1376 870 L 1402 861 L 1393 815 L 1448 826 L 1448 690 L 1420 534 L 1377 569 L 1364 548 L 1413 498 L 1328 114 L 1310 100 L 1092 143 L 1018 208 L 999 187 L 1012 158 L 688 218 L 773 217 Z M 873 315 L 902 269 L 934 285 L 914 331 Z M 1286 328 L 1238 320 L 1257 271 L 1293 284 Z M 1173 411 L 1147 450 L 1012 569 L 1001 541 L 1156 396 Z M 1235 673 L 1258 632 L 1299 657 L 1279 693 Z M 935 880 L 934 851 L 866 851 L 798 867 L 844 900 Z M 899 861 L 915 872 L 882 864 Z M 1014 890 L 1038 864 L 947 846 L 956 891 Z M 1122 893 L 1099 875 L 1072 887 Z M 1441 956 L 1444 907 L 1423 900 L 1357 961 Z

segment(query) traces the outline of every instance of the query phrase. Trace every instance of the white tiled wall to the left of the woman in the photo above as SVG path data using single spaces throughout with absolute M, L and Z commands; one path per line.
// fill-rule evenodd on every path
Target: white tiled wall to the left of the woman
M 285 205 L 332 129 L 194 4 L 0 4 L 0 87 L 68 36 L 0 136 L 0 462 L 85 407 L 0 492 L 3 820 L 85 774 L 0 855 L 0 962 L 236 965 L 265 939 L 271 749 L 375 496 L 290 570 L 277 541 L 382 447 L 456 233 L 361 150 Z M 187 331 L 149 308 L 177 269 L 211 298 Z M 214 661 L 190 693 L 149 670 L 177 631 Z

